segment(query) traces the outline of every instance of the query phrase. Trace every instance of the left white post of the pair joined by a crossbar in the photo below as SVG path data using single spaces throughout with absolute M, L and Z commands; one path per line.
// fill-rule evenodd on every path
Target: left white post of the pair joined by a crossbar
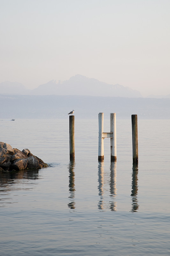
M 99 113 L 99 148 L 98 148 L 99 161 L 104 160 L 103 120 L 104 120 L 104 114 Z

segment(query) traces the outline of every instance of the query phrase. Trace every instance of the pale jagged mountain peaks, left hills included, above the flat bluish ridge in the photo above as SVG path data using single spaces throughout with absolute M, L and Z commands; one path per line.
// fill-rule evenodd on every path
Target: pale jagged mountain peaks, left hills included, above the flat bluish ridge
M 41 84 L 33 90 L 27 90 L 23 84 L 17 82 L 0 83 L 1 94 L 16 95 L 86 95 L 86 96 L 110 96 L 139 98 L 141 93 L 124 87 L 120 84 L 107 84 L 94 78 L 76 75 L 69 80 L 51 80 Z

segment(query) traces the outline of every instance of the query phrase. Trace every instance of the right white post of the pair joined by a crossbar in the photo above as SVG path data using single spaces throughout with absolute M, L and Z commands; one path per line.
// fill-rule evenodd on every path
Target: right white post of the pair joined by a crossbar
M 110 132 L 113 132 L 113 138 L 110 138 L 111 162 L 116 161 L 116 113 L 110 113 Z

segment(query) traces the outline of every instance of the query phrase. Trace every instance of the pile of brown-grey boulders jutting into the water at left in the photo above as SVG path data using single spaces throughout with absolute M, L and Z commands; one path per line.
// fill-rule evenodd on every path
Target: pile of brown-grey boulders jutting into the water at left
M 10 172 L 24 169 L 41 169 L 48 167 L 40 158 L 34 156 L 29 149 L 20 151 L 11 145 L 0 142 L 0 171 Z

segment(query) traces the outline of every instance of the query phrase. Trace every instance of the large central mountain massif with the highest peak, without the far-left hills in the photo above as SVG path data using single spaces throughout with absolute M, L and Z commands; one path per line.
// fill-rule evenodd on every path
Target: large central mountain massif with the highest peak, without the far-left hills
M 51 92 L 55 95 L 142 97 L 140 92 L 129 87 L 124 87 L 120 84 L 107 84 L 81 75 L 72 76 L 69 80 L 59 81 L 58 83 L 52 80 L 33 90 L 33 93 L 38 95 L 50 95 Z

